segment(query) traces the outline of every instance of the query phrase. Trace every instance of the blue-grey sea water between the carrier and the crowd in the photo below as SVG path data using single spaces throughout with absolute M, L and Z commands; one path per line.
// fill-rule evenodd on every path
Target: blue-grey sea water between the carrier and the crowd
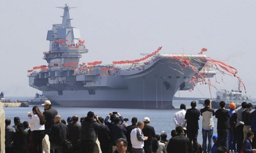
M 167 139 L 170 138 L 170 132 L 175 129 L 174 123 L 174 113 L 179 111 L 180 104 L 185 104 L 186 108 L 190 108 L 190 101 L 185 100 L 175 100 L 173 101 L 173 105 L 177 109 L 173 110 L 159 110 L 159 109 L 121 109 L 121 108 L 81 108 L 81 107 L 55 107 L 58 111 L 58 114 L 62 119 L 67 121 L 69 116 L 78 115 L 78 117 L 87 116 L 89 111 L 94 112 L 95 115 L 98 115 L 102 118 L 105 118 L 109 115 L 110 112 L 119 112 L 123 118 L 128 118 L 129 121 L 126 123 L 131 125 L 131 119 L 133 117 L 137 117 L 138 120 L 143 120 L 144 117 L 149 117 L 151 122 L 150 125 L 155 128 L 156 134 L 161 134 L 162 131 L 167 133 Z M 23 122 L 28 119 L 27 113 L 32 112 L 32 107 L 29 106 L 27 108 L 23 107 L 5 107 L 5 118 L 11 119 L 11 125 L 14 125 L 13 118 L 18 116 L 20 121 Z M 40 110 L 43 110 L 43 106 L 38 106 Z M 203 106 L 198 104 L 197 109 L 202 109 Z M 214 117 L 215 128 L 214 134 L 217 134 L 216 126 L 217 119 Z M 199 120 L 199 131 L 198 131 L 198 142 L 202 143 L 202 116 L 200 116 Z

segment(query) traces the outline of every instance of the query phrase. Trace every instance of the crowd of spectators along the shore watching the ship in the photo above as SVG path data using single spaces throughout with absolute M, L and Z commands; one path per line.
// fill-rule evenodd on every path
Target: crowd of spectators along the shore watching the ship
M 150 118 L 138 121 L 133 117 L 131 125 L 124 122 L 119 112 L 110 112 L 105 118 L 89 111 L 86 117 L 74 115 L 63 120 L 57 110 L 46 100 L 41 113 L 37 106 L 28 113 L 23 123 L 19 117 L 6 119 L 5 145 L 6 152 L 134 152 L 134 153 L 172 153 L 172 152 L 256 152 L 256 110 L 251 112 L 252 104 L 243 102 L 236 109 L 236 104 L 221 101 L 220 108 L 211 108 L 209 99 L 204 101 L 205 107 L 196 108 L 196 101 L 191 101 L 191 108 L 186 110 L 184 104 L 174 114 L 175 130 L 167 140 L 166 132 L 156 134 L 150 125 Z M 198 143 L 199 118 L 202 116 L 203 143 Z M 217 134 L 214 135 L 214 116 L 217 121 Z M 49 137 L 50 148 L 46 138 Z M 65 147 L 66 141 L 72 149 Z M 207 144 L 208 140 L 208 144 Z M 46 149 L 46 150 L 45 150 Z

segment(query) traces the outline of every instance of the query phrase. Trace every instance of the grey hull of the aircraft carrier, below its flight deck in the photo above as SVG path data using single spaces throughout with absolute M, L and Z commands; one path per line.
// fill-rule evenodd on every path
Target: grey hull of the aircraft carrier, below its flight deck
M 63 107 L 173 109 L 175 93 L 194 87 L 188 82 L 196 72 L 181 69 L 180 64 L 169 58 L 161 58 L 148 64 L 147 69 L 137 71 L 132 75 L 97 75 L 83 87 L 60 83 L 38 89 L 54 105 Z M 62 90 L 61 94 L 58 90 Z

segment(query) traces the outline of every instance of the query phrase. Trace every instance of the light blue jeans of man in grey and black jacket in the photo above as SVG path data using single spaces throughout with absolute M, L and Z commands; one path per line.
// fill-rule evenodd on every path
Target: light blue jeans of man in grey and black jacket
M 212 147 L 212 134 L 214 133 L 214 127 L 211 127 L 210 130 L 204 130 L 202 129 L 202 135 L 203 135 L 203 151 L 211 152 Z M 206 141 L 208 137 L 208 146 L 206 146 Z

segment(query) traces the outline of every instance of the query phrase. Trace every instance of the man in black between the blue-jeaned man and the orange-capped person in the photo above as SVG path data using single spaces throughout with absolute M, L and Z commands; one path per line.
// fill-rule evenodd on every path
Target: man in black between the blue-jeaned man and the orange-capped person
M 215 117 L 218 118 L 217 122 L 217 133 L 218 133 L 218 140 L 217 140 L 217 147 L 224 146 L 228 148 L 228 129 L 230 128 L 229 125 L 229 112 L 225 110 L 226 103 L 224 101 L 220 102 L 220 109 L 218 109 L 215 113 Z

